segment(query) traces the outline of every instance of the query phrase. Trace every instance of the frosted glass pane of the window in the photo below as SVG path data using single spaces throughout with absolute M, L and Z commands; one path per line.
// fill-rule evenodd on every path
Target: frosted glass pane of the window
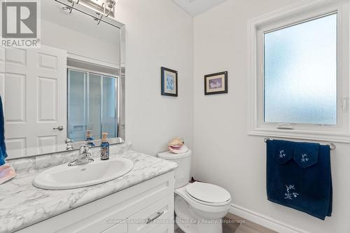
M 265 122 L 337 125 L 337 13 L 264 37 Z

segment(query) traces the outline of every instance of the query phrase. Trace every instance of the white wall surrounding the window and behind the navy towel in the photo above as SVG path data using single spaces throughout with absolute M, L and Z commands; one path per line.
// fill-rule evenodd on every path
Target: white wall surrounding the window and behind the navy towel
M 233 203 L 315 233 L 350 232 L 350 145 L 332 155 L 332 218 L 318 220 L 267 201 L 262 137 L 247 135 L 247 21 L 293 0 L 228 0 L 194 20 L 195 178 L 228 189 Z M 228 71 L 228 94 L 204 96 L 204 74 Z

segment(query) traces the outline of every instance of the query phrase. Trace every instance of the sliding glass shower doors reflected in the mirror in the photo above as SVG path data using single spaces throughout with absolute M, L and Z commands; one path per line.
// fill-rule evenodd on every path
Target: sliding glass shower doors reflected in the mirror
M 118 77 L 68 69 L 68 137 L 84 141 L 118 137 Z

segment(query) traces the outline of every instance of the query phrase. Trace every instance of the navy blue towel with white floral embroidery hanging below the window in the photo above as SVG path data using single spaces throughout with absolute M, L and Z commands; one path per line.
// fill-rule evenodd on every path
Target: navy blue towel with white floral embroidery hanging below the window
M 331 216 L 330 146 L 268 140 L 267 199 L 322 220 Z

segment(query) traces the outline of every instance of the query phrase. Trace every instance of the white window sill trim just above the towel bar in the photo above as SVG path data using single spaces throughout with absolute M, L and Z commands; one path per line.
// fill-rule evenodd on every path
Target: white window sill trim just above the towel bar
M 349 133 L 337 133 L 337 132 L 315 132 L 304 131 L 297 129 L 266 129 L 255 128 L 248 131 L 250 136 L 267 136 L 276 137 L 282 139 L 298 139 L 309 141 L 323 141 L 323 142 L 337 142 L 337 143 L 350 143 Z

